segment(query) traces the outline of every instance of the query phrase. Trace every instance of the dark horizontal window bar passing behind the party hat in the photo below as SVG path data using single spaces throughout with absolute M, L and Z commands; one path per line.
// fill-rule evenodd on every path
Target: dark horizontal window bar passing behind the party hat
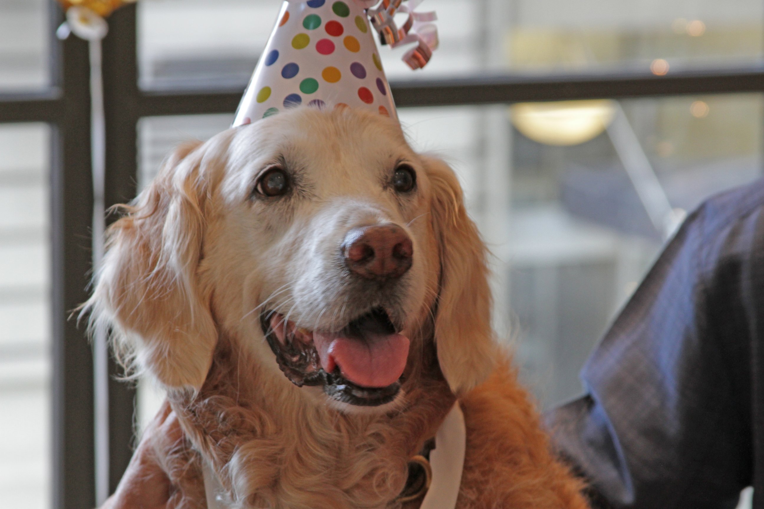
M 141 91 L 137 99 L 138 115 L 232 113 L 244 92 L 243 86 L 195 90 L 187 83 L 177 85 L 176 89 L 164 86 L 160 90 Z M 546 76 L 502 74 L 393 81 L 390 88 L 400 108 L 731 94 L 764 92 L 764 68 L 751 65 L 739 69 L 689 69 L 668 76 L 643 72 Z

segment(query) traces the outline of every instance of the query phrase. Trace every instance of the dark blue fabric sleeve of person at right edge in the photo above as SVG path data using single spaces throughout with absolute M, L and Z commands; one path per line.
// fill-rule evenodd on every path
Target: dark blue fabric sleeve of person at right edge
M 595 506 L 764 508 L 764 180 L 665 247 L 547 424 Z

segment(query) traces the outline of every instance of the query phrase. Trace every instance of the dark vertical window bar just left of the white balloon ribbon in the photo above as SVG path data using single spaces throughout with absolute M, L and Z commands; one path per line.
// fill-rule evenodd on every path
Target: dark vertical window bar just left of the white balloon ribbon
M 49 5 L 54 34 L 63 17 L 56 2 Z M 92 352 L 70 314 L 87 298 L 91 257 L 88 48 L 76 37 L 50 47 L 61 91 L 50 168 L 53 508 L 84 509 L 95 504 Z

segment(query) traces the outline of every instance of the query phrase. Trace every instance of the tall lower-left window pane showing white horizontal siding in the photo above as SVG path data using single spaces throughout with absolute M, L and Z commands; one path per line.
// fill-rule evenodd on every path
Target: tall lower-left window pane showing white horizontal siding
M 0 125 L 0 493 L 50 507 L 50 224 L 45 124 Z

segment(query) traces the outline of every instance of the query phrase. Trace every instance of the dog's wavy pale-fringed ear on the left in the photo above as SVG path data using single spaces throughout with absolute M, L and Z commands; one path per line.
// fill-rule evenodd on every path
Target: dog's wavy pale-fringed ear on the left
M 198 144 L 176 150 L 109 228 L 86 304 L 91 324 L 112 327 L 117 353 L 170 388 L 200 388 L 217 342 L 196 281 L 209 192 Z

